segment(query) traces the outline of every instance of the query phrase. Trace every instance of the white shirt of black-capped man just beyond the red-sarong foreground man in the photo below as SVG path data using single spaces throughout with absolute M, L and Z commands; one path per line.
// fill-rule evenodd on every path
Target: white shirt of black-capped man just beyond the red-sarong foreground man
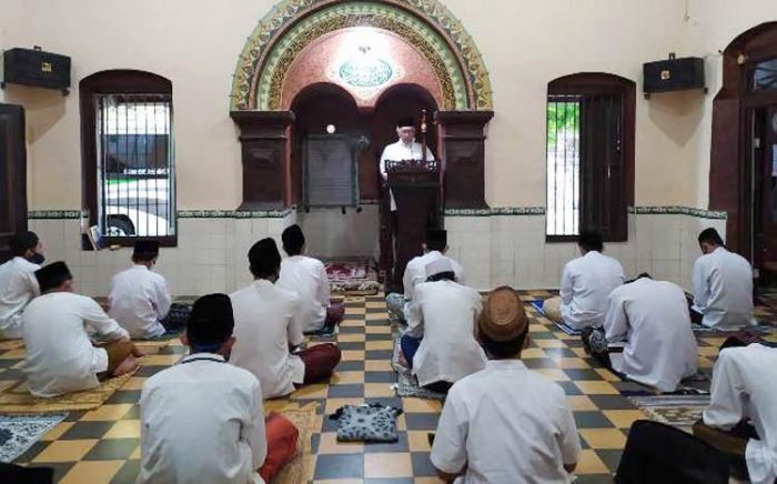
M 305 377 L 305 364 L 289 353 L 302 343 L 300 299 L 293 292 L 260 279 L 230 294 L 234 337 L 230 363 L 250 371 L 262 384 L 264 399 L 294 391 Z

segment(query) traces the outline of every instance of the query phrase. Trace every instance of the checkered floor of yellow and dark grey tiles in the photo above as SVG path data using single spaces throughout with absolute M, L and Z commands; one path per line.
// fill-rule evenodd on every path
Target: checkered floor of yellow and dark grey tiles
M 545 291 L 522 293 L 526 301 L 545 299 Z M 316 483 L 433 483 L 427 433 L 434 431 L 440 402 L 395 396 L 391 369 L 392 331 L 382 296 L 349 298 L 345 321 L 337 335 L 343 362 L 329 385 L 311 385 L 292 401 L 320 402 L 320 432 L 313 435 Z M 620 396 L 619 390 L 638 387 L 620 382 L 586 357 L 577 337 L 568 336 L 539 317 L 533 317 L 532 345 L 526 365 L 558 382 L 568 395 L 583 444 L 577 483 L 612 482 L 632 422 L 643 413 Z M 720 339 L 703 339 L 699 366 L 712 367 Z M 92 412 L 72 412 L 17 462 L 56 468 L 62 483 L 131 483 L 138 474 L 139 405 L 143 381 L 174 364 L 185 349 L 180 343 L 162 350 L 105 405 Z M 20 376 L 23 350 L 0 344 L 0 389 Z M 336 423 L 325 415 L 346 403 L 381 402 L 402 407 L 400 441 L 389 445 L 340 444 Z M 268 406 L 278 403 L 268 402 Z

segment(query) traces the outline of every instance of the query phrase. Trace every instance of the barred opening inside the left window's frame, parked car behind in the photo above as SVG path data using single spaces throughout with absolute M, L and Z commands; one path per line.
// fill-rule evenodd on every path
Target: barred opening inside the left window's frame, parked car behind
M 94 94 L 97 221 L 112 239 L 175 235 L 171 94 Z

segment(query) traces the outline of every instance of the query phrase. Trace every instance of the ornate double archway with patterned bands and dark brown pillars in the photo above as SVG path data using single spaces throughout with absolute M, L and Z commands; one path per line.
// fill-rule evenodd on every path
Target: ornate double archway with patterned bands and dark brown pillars
M 485 206 L 491 82 L 477 47 L 447 8 L 437 0 L 284 0 L 251 33 L 233 77 L 242 209 L 293 203 L 291 109 L 296 94 L 316 83 L 343 88 L 362 112 L 396 85 L 430 92 L 440 109 L 445 204 Z

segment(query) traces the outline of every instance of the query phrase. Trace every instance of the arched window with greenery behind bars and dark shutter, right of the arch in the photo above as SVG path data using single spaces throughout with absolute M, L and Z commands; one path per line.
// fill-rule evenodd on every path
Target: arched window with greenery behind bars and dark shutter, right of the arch
M 575 74 L 548 85 L 548 241 L 572 240 L 583 228 L 627 239 L 634 104 L 634 83 L 616 75 Z

